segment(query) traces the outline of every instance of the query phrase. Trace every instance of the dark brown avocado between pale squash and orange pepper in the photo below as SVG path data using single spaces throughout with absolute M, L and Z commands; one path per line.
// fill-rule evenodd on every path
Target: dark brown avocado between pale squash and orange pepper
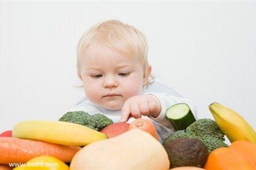
M 204 167 L 208 158 L 207 147 L 199 139 L 180 138 L 164 143 L 170 168 L 175 167 Z

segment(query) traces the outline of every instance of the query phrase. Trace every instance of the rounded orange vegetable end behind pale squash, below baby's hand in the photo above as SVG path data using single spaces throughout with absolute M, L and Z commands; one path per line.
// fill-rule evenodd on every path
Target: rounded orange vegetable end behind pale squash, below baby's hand
M 129 125 L 129 129 L 141 129 L 150 133 L 156 140 L 159 140 L 158 133 L 156 132 L 155 125 L 152 121 L 144 119 L 144 118 L 137 118 L 134 122 Z

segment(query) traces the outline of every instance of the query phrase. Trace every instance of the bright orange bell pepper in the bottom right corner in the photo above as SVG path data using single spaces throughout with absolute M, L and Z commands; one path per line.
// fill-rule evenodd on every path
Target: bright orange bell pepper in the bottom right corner
M 210 153 L 204 168 L 207 170 L 255 170 L 256 145 L 249 141 L 236 141 L 229 148 L 217 148 Z

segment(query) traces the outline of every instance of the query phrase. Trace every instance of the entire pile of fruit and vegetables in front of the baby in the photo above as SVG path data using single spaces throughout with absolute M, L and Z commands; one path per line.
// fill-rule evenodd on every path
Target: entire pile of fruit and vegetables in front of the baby
M 59 121 L 19 122 L 0 134 L 0 170 L 255 170 L 254 129 L 224 105 L 209 109 L 215 121 L 196 120 L 187 104 L 173 105 L 166 117 L 176 131 L 163 142 L 145 118 L 113 123 L 102 114 L 79 111 Z

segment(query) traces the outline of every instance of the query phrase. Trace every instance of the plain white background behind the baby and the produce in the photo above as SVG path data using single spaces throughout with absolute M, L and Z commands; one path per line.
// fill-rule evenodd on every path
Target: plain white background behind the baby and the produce
M 147 36 L 156 80 L 199 118 L 217 101 L 256 128 L 256 2 L 0 2 L 0 132 L 57 120 L 84 96 L 76 45 L 106 19 Z

